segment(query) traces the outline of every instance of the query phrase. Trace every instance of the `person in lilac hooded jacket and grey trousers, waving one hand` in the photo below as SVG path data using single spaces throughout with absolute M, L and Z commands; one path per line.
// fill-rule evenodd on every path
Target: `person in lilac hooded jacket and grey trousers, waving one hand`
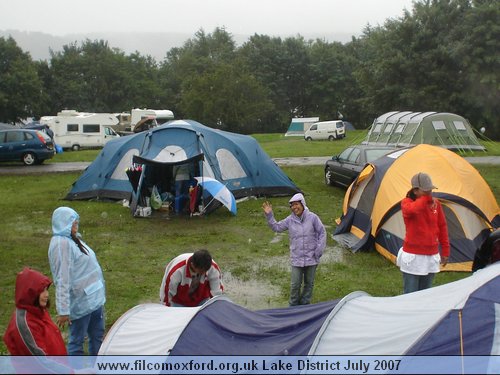
M 307 305 L 311 303 L 316 268 L 326 246 L 326 230 L 318 215 L 309 211 L 301 193 L 295 194 L 289 204 L 292 213 L 281 221 L 274 218 L 271 203 L 264 202 L 262 208 L 273 231 L 288 230 L 292 265 L 289 304 Z

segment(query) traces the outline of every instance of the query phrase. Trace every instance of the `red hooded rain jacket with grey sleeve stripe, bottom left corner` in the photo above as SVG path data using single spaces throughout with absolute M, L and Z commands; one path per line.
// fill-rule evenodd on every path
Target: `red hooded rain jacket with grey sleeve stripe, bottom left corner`
M 11 355 L 67 355 L 59 328 L 46 308 L 35 305 L 51 284 L 40 272 L 25 268 L 16 278 L 16 310 L 3 337 Z

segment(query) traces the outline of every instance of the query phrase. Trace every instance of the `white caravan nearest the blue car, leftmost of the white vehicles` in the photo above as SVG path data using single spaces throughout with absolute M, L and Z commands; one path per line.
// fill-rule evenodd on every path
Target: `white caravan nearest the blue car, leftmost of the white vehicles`
M 112 113 L 64 110 L 57 116 L 43 116 L 40 123 L 52 129 L 57 145 L 74 151 L 103 147 L 111 139 L 119 137 L 111 128 L 118 124 L 118 118 Z

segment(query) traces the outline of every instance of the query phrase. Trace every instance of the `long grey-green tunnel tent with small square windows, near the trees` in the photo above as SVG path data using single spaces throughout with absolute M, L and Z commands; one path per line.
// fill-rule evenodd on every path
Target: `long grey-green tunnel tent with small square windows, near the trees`
M 393 111 L 373 121 L 362 144 L 408 147 L 417 144 L 442 146 L 450 150 L 484 151 L 469 122 L 444 112 Z

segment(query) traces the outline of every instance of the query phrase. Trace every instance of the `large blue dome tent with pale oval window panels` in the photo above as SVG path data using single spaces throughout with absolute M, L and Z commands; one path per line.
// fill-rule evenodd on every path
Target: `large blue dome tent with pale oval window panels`
M 134 156 L 138 159 L 134 160 Z M 132 186 L 126 170 L 134 164 L 144 167 L 137 194 L 150 196 L 148 189 L 171 183 L 172 168 L 183 163 L 197 168 L 193 177 L 211 177 L 225 184 L 236 199 L 300 192 L 255 138 L 192 120 L 174 120 L 108 142 L 73 184 L 66 199 L 130 199 Z M 221 205 L 215 201 L 215 208 L 217 204 Z

